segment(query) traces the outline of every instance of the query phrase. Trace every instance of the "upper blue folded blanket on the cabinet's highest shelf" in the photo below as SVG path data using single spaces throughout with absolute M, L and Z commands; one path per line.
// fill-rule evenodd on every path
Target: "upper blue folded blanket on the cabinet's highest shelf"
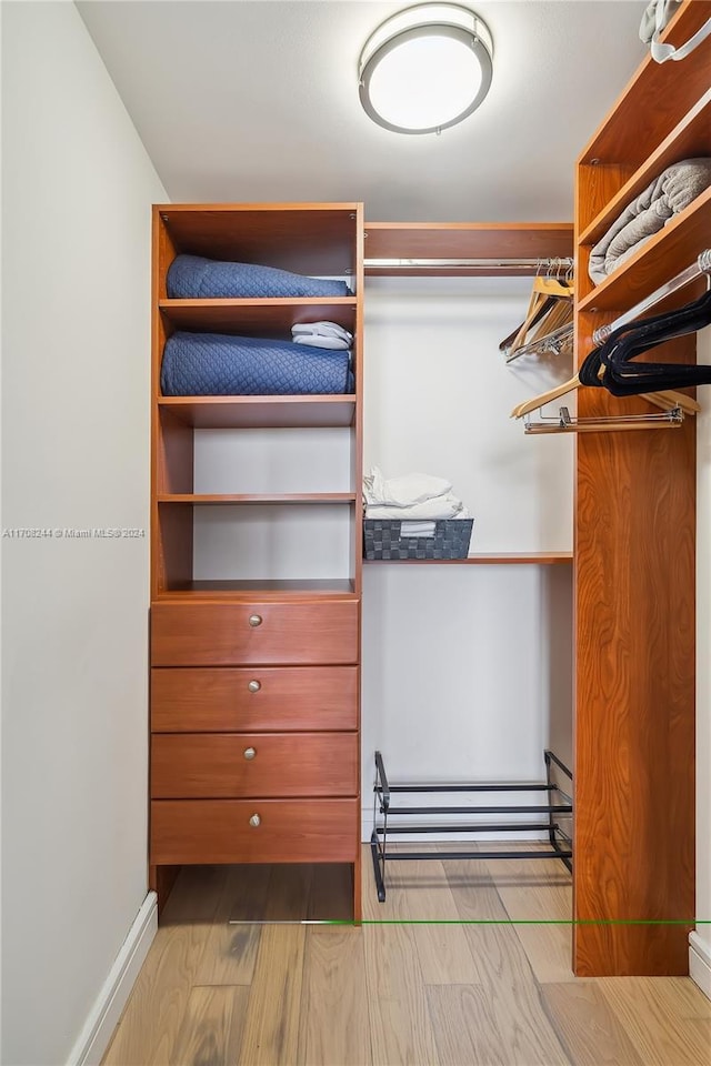
M 254 263 L 222 263 L 201 255 L 178 255 L 168 269 L 166 288 L 171 300 L 349 294 L 344 281 L 323 281 Z

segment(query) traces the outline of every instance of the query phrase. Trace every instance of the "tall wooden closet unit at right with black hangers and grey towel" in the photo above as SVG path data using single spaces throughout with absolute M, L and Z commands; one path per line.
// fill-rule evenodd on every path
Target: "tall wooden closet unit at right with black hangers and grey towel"
M 711 18 L 685 0 L 680 44 Z M 711 39 L 647 58 L 577 168 L 577 354 L 711 247 L 711 190 L 597 286 L 591 247 L 667 167 L 711 155 Z M 680 306 L 687 286 L 653 312 Z M 694 362 L 693 336 L 655 350 Z M 583 389 L 579 416 L 651 410 Z M 695 425 L 577 441 L 574 969 L 687 974 L 694 916 Z

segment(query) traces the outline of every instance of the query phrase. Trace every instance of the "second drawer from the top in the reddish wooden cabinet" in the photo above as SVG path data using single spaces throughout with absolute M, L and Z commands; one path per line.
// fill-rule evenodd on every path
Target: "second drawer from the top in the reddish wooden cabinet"
M 358 728 L 357 666 L 151 671 L 154 733 Z

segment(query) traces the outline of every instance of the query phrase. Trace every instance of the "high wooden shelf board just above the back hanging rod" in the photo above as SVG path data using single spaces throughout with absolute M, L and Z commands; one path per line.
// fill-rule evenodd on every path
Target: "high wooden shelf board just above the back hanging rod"
M 372 259 L 548 259 L 573 254 L 573 227 L 569 222 L 370 222 L 365 223 L 365 260 Z M 421 273 L 427 273 L 423 268 Z M 531 271 L 534 272 L 534 269 Z M 365 268 L 379 276 L 412 269 Z M 470 268 L 438 269 L 447 276 L 473 273 Z M 487 271 L 482 271 L 487 273 Z M 491 270 L 488 270 L 489 275 Z M 499 271 L 497 272 L 499 273 Z M 503 271 L 501 271 L 503 273 Z M 517 271 L 521 273 L 521 271 Z

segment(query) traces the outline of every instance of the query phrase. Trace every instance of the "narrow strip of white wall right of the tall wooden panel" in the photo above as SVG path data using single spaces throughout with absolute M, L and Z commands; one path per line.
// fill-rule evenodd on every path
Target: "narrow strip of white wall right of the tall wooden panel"
M 711 364 L 711 328 L 699 334 L 697 358 Z M 711 998 L 711 399 L 700 390 L 697 521 L 697 917 L 691 973 Z M 705 924 L 703 924 L 705 923 Z

